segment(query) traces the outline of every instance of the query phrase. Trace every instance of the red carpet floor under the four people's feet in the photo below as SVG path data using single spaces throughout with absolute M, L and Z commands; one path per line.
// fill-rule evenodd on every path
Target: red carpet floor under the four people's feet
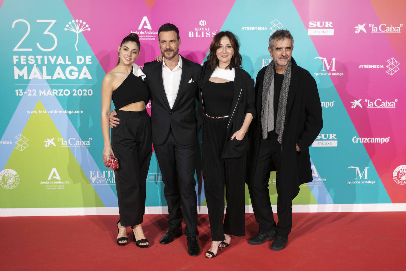
M 187 254 L 186 237 L 168 245 L 166 215 L 145 215 L 150 247 L 116 244 L 118 216 L 1 217 L 2 270 L 405 270 L 404 212 L 294 213 L 289 243 L 271 251 L 270 242 L 248 245 L 257 234 L 246 214 L 246 236 L 206 259 L 207 215 L 199 215 L 201 254 Z M 130 228 L 127 235 L 131 237 Z

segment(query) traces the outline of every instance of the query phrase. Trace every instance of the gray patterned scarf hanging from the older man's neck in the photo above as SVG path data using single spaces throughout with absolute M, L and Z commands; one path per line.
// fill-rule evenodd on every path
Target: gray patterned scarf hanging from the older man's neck
M 275 62 L 272 60 L 265 71 L 262 88 L 262 138 L 268 138 L 268 132 L 275 130 L 278 134 L 278 142 L 282 143 L 283 128 L 285 126 L 286 102 L 289 94 L 290 77 L 292 71 L 292 61 L 283 73 L 281 94 L 278 102 L 278 112 L 276 113 L 276 127 L 274 124 L 274 76 Z

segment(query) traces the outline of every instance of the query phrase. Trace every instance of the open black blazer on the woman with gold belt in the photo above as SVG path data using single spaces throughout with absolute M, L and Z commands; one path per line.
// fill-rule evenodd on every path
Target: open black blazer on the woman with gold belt
M 254 93 L 254 80 L 243 69 L 235 68 L 234 78 L 234 94 L 233 102 L 229 113 L 229 120 L 227 123 L 227 138 L 221 158 L 235 158 L 241 157 L 246 150 L 248 150 L 248 135 L 246 134 L 241 141 L 237 139 L 230 140 L 233 134 L 241 129 L 244 123 L 245 114 L 251 113 L 255 118 L 255 93 Z M 197 127 L 203 125 L 205 120 L 205 108 L 202 97 L 202 88 L 212 76 L 213 71 L 208 67 L 207 61 L 203 64 L 202 77 L 199 80 L 199 112 Z

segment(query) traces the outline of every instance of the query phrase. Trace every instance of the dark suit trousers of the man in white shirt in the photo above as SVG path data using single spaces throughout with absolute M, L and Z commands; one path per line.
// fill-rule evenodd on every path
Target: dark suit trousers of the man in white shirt
M 165 185 L 164 195 L 169 212 L 168 227 L 178 228 L 182 219 L 185 219 L 185 235 L 198 235 L 197 196 L 194 190 L 197 140 L 194 144 L 181 145 L 177 143 L 170 130 L 164 143 L 154 144 L 154 148 L 162 173 L 162 182 Z

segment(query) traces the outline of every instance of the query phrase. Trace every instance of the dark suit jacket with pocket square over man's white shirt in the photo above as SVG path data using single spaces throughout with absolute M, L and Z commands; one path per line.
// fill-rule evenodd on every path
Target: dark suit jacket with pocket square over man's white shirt
M 180 55 L 179 55 L 180 56 Z M 181 145 L 196 142 L 197 82 L 201 65 L 182 58 L 182 75 L 179 90 L 172 109 L 166 98 L 162 80 L 162 62 L 151 61 L 144 64 L 145 82 L 151 98 L 152 143 L 162 144 L 168 136 L 169 128 Z

